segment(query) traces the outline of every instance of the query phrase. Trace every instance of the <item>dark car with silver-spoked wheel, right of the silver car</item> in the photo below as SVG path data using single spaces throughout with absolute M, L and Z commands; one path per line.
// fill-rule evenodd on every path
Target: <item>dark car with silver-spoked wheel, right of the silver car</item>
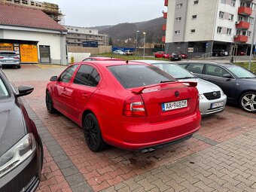
M 244 111 L 256 112 L 256 75 L 247 69 L 218 62 L 181 62 L 179 65 L 221 87 L 227 102 L 239 105 Z

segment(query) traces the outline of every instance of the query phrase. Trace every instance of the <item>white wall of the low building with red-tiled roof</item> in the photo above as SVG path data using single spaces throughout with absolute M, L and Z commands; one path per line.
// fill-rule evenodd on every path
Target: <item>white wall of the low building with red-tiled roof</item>
M 54 64 L 66 65 L 66 35 L 49 32 L 35 32 L 3 29 L 3 39 L 20 41 L 38 41 L 38 61 L 40 60 L 39 45 L 50 46 L 50 58 Z

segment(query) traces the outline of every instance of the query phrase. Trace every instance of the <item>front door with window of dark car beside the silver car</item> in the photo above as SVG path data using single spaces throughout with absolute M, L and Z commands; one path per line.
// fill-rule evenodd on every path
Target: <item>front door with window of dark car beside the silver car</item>
M 230 75 L 230 78 L 224 78 L 224 75 Z M 206 64 L 205 75 L 202 78 L 206 81 L 210 81 L 213 84 L 217 84 L 224 93 L 227 95 L 227 99 L 235 99 L 236 96 L 236 78 L 227 72 L 221 66 Z

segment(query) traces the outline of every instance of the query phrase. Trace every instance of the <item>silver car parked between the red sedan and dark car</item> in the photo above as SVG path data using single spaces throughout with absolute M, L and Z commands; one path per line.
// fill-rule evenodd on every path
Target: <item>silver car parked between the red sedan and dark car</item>
M 178 81 L 194 81 L 197 82 L 197 90 L 200 94 L 200 112 L 202 115 L 215 114 L 224 111 L 227 96 L 215 84 L 197 78 L 195 75 L 181 68 L 174 62 L 166 62 L 160 60 L 134 60 L 137 62 L 145 62 L 153 66 L 157 66 Z

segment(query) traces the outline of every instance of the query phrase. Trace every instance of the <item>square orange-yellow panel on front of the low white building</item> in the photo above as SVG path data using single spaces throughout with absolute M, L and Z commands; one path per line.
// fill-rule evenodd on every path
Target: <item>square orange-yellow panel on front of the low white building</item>
M 38 62 L 38 47 L 36 44 L 20 44 L 21 62 Z

